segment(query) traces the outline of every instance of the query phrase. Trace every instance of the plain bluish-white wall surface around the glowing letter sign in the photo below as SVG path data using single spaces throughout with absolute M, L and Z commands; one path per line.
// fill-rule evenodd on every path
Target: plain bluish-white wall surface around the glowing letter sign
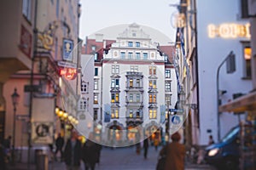
M 216 77 L 218 65 L 232 50 L 236 54 L 236 72 L 226 74 L 226 65 L 219 72 L 219 89 L 227 90 L 221 99 L 223 103 L 232 99 L 232 94 L 247 93 L 252 89 L 252 83 L 242 80 L 243 55 L 240 41 L 248 41 L 247 38 L 222 38 L 208 37 L 207 26 L 210 24 L 219 26 L 223 23 L 245 24 L 247 20 L 241 20 L 240 1 L 197 1 L 197 29 L 198 29 L 198 74 L 200 94 L 200 144 L 207 144 L 207 129 L 212 129 L 215 140 L 218 139 L 217 127 L 217 86 Z M 238 123 L 237 116 L 231 113 L 222 113 L 220 116 L 220 136 Z

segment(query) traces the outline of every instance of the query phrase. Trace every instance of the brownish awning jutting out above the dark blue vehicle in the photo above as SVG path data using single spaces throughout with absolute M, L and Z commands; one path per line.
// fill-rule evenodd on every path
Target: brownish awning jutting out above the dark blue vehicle
M 256 111 L 256 91 L 234 99 L 218 107 L 219 112 Z

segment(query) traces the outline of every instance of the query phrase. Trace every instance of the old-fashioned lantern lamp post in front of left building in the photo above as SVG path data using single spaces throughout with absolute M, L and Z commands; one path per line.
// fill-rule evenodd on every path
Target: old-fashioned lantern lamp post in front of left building
M 11 95 L 13 105 L 14 105 L 14 128 L 13 128 L 13 148 L 12 148 L 12 162 L 15 163 L 15 119 L 16 119 L 16 105 L 18 105 L 20 95 L 17 93 L 17 88 L 15 88 L 14 94 Z

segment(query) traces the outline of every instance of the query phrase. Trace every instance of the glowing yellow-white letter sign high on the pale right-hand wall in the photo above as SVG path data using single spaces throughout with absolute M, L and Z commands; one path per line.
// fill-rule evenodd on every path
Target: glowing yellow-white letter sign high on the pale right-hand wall
M 237 38 L 237 37 L 251 37 L 250 24 L 245 25 L 235 23 L 224 23 L 219 26 L 208 26 L 208 37 L 223 37 L 223 38 Z

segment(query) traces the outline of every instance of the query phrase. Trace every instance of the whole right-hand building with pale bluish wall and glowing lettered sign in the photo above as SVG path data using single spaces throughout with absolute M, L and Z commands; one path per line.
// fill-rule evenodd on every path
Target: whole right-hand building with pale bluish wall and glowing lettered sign
M 210 134 L 218 141 L 243 119 L 244 114 L 218 111 L 218 105 L 247 94 L 252 87 L 250 22 L 242 2 L 183 0 L 178 5 L 177 54 L 183 63 L 190 145 L 207 144 Z M 233 54 L 235 65 L 230 62 Z

